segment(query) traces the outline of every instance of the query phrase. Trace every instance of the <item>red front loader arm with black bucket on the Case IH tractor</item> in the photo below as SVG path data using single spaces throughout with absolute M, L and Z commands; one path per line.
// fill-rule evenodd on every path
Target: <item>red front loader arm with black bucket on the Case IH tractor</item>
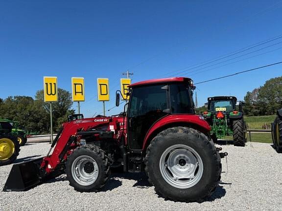
M 3 191 L 29 190 L 62 174 L 68 155 L 80 145 L 80 135 L 91 133 L 99 138 L 100 134 L 107 133 L 116 138 L 114 134 L 118 134 L 120 121 L 116 117 L 102 117 L 64 123 L 46 157 L 13 165 Z M 99 130 L 100 127 L 107 129 Z M 52 148 L 53 152 L 50 154 Z

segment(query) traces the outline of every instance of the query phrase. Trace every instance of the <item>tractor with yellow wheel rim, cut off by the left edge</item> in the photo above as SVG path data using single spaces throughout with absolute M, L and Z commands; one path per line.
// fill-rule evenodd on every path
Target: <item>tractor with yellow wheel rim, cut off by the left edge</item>
M 20 144 L 12 135 L 12 125 L 0 121 L 0 166 L 11 164 L 19 155 Z

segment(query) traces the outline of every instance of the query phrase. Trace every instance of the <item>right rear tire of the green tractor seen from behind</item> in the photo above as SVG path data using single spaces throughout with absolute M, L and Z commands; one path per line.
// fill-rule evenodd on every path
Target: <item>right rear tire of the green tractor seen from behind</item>
M 233 140 L 234 146 L 245 147 L 245 132 L 243 118 L 233 121 Z

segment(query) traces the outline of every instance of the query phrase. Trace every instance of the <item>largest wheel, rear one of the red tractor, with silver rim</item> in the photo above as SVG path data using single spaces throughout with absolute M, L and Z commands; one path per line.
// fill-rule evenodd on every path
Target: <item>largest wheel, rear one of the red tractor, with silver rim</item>
M 156 193 L 173 201 L 201 201 L 220 181 L 220 156 L 213 142 L 189 127 L 160 132 L 147 148 L 145 165 Z

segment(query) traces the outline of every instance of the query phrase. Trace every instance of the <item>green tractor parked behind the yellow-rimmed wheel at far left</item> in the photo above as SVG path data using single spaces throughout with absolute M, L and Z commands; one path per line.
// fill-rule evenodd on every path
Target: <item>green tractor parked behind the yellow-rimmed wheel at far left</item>
M 0 119 L 0 122 L 5 122 L 8 123 L 12 126 L 12 130 L 11 130 L 11 135 L 15 136 L 18 139 L 18 142 L 20 144 L 20 146 L 24 146 L 26 141 L 27 141 L 27 135 L 29 134 L 28 132 L 26 132 L 23 129 L 19 129 L 18 128 L 18 122 L 17 121 L 12 121 L 12 120 L 8 120 L 8 119 Z M 4 124 L 3 127 L 6 127 L 7 129 L 9 129 L 8 124 Z

